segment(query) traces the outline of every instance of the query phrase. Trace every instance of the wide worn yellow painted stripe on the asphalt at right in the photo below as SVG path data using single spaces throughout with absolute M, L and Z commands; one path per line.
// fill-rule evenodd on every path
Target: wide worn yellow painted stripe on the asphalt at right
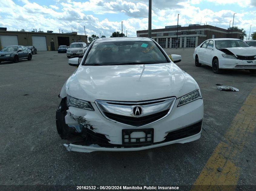
M 191 191 L 234 191 L 240 175 L 240 168 L 236 166 L 236 161 L 244 145 L 250 140 L 255 127 L 256 87 L 253 88 L 244 101 L 231 126 L 225 133 L 224 137 L 227 142 L 220 142 L 214 149 L 211 157 L 194 182 Z

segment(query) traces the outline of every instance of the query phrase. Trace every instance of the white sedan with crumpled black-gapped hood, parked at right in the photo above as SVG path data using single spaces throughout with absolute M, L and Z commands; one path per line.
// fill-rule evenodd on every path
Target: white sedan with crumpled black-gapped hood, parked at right
M 218 74 L 221 69 L 245 69 L 256 73 L 256 48 L 239 39 L 209 39 L 194 50 L 196 66 L 206 64 Z

